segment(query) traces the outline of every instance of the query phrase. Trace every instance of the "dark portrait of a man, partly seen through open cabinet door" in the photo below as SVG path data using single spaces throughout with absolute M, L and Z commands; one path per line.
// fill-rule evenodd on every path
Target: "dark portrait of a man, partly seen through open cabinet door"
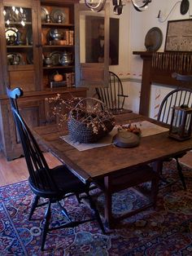
M 110 18 L 109 64 L 119 64 L 119 19 Z M 87 63 L 102 63 L 104 57 L 104 18 L 86 16 L 85 60 Z

